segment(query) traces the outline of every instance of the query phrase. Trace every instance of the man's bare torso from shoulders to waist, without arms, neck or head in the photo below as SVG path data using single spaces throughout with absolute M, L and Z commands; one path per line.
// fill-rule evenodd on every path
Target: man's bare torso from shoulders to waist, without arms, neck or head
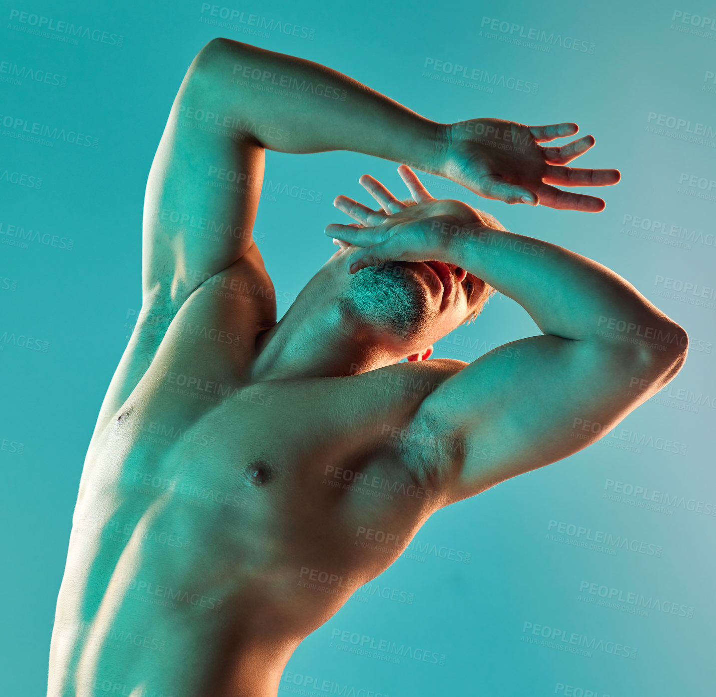
M 275 694 L 296 645 L 441 505 L 400 430 L 464 364 L 264 379 L 256 337 L 276 306 L 252 250 L 160 342 L 151 325 L 135 337 L 110 386 L 57 604 L 53 697 Z

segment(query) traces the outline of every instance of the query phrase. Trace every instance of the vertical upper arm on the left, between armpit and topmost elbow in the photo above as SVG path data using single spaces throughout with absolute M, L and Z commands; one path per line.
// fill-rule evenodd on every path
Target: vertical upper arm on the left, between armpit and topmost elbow
M 263 148 L 229 128 L 211 80 L 185 78 L 145 194 L 142 287 L 177 309 L 251 246 Z M 217 125 L 218 124 L 218 125 Z

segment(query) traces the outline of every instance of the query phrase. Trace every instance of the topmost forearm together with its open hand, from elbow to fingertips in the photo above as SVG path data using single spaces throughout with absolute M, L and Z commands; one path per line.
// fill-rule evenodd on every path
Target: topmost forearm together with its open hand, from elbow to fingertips
M 486 198 L 579 211 L 601 211 L 604 201 L 552 185 L 619 181 L 617 170 L 564 166 L 594 145 L 591 135 L 556 147 L 539 145 L 576 134 L 575 123 L 527 126 L 495 118 L 438 123 L 323 65 L 228 39 L 214 43 L 221 85 L 230 84 L 231 95 L 239 89 L 251 94 L 244 114 L 264 148 L 354 150 L 453 179 Z M 291 138 L 276 138 L 272 129 L 290 130 Z

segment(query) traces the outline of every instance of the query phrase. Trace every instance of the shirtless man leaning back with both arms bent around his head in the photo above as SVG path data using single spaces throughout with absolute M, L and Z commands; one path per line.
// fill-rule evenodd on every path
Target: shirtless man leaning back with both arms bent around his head
M 674 377 L 687 335 L 632 285 L 432 198 L 405 165 L 414 205 L 370 177 L 379 210 L 337 198 L 356 222 L 328 226 L 339 249 L 276 322 L 251 239 L 264 149 L 354 150 L 600 211 L 551 186 L 618 181 L 563 166 L 594 140 L 538 145 L 576 130 L 442 125 L 319 64 L 201 50 L 150 171 L 142 310 L 79 484 L 50 697 L 276 695 L 301 640 L 437 509 L 579 451 Z M 541 335 L 427 360 L 492 289 Z

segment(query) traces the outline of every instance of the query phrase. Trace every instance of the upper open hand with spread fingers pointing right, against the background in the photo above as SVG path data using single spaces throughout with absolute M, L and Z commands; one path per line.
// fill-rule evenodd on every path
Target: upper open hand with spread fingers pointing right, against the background
M 621 178 L 619 170 L 564 166 L 594 145 L 591 135 L 561 146 L 538 145 L 577 131 L 576 123 L 526 126 L 500 119 L 460 121 L 445 131 L 445 153 L 439 170 L 442 176 L 485 198 L 591 213 L 603 211 L 601 198 L 551 186 L 611 186 Z

